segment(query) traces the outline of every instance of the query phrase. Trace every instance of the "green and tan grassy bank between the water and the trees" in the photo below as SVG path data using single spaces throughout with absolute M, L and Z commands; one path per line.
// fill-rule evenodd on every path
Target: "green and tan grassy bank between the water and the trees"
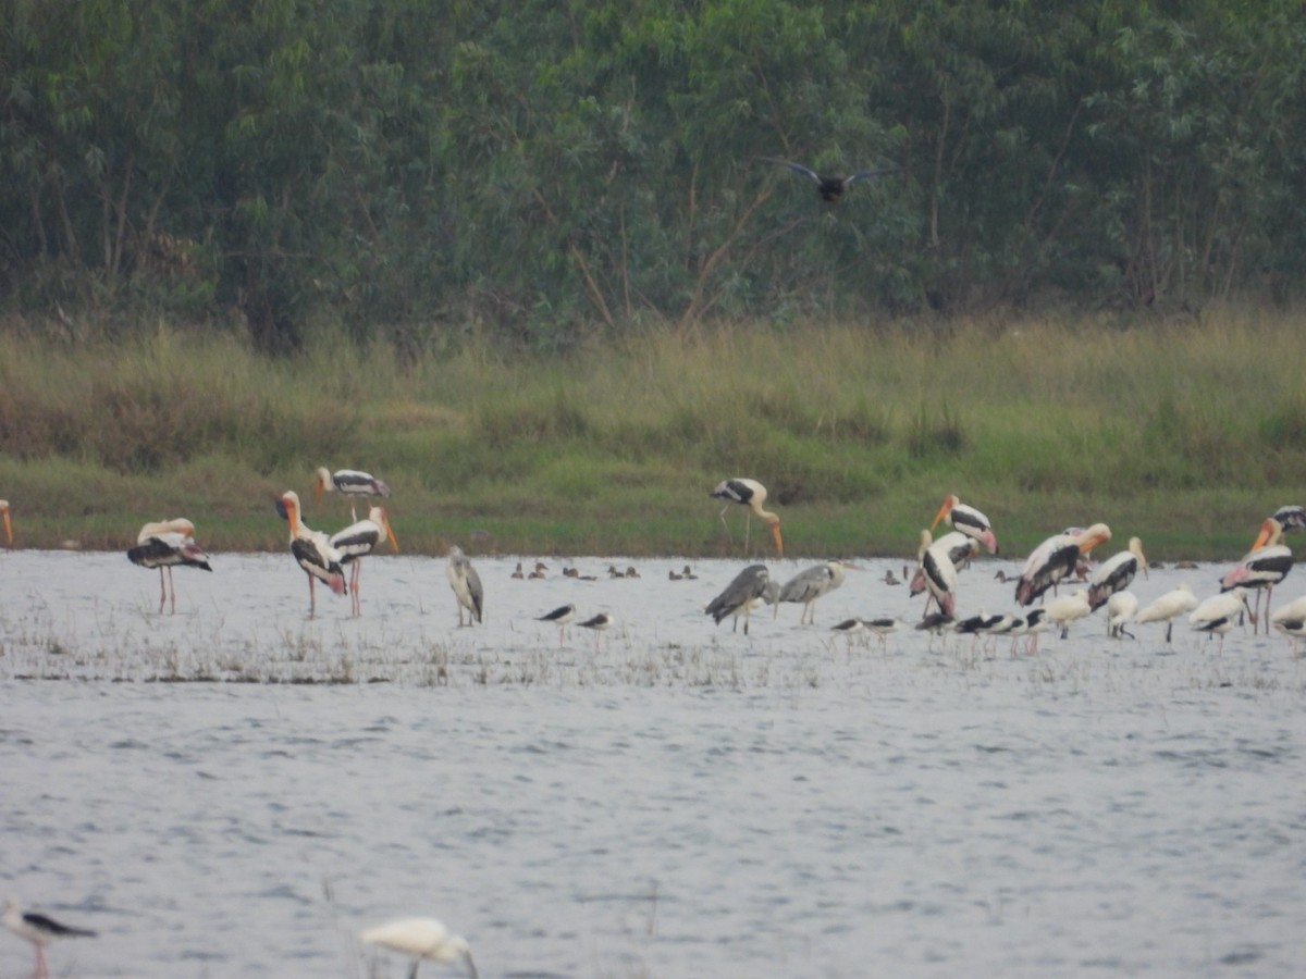
M 1023 555 L 1106 521 L 1149 556 L 1229 559 L 1306 503 L 1306 342 L 1292 313 L 649 332 L 565 359 L 469 342 L 404 365 L 324 343 L 272 362 L 158 330 L 76 347 L 10 328 L 0 497 L 16 546 L 121 548 L 184 514 L 209 550 L 285 547 L 272 499 L 358 467 L 394 489 L 407 552 L 741 553 L 708 499 L 765 483 L 786 556 L 914 555 L 957 492 Z M 754 550 L 767 536 L 754 521 Z M 1114 543 L 1111 550 L 1115 550 Z

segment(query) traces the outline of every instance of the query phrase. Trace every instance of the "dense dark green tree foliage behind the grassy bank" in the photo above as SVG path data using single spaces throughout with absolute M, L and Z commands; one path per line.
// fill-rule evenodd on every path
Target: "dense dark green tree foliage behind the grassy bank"
M 0 303 L 415 350 L 1282 298 L 1302 7 L 0 0 Z

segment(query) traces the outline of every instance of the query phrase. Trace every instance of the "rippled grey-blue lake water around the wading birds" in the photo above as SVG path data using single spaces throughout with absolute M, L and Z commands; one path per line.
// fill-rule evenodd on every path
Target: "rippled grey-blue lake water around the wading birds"
M 1280 636 L 832 636 L 919 617 L 865 560 L 816 625 L 744 637 L 701 611 L 744 561 L 517 560 L 473 556 L 460 629 L 443 560 L 371 559 L 363 616 L 319 589 L 310 620 L 289 555 L 178 569 L 159 615 L 121 555 L 0 553 L 0 897 L 99 931 L 52 974 L 401 976 L 358 931 L 435 915 L 483 976 L 1302 975 Z M 959 611 L 1010 611 L 1015 567 L 963 572 Z M 568 602 L 618 625 L 535 620 Z M 0 976 L 30 970 L 0 933 Z

